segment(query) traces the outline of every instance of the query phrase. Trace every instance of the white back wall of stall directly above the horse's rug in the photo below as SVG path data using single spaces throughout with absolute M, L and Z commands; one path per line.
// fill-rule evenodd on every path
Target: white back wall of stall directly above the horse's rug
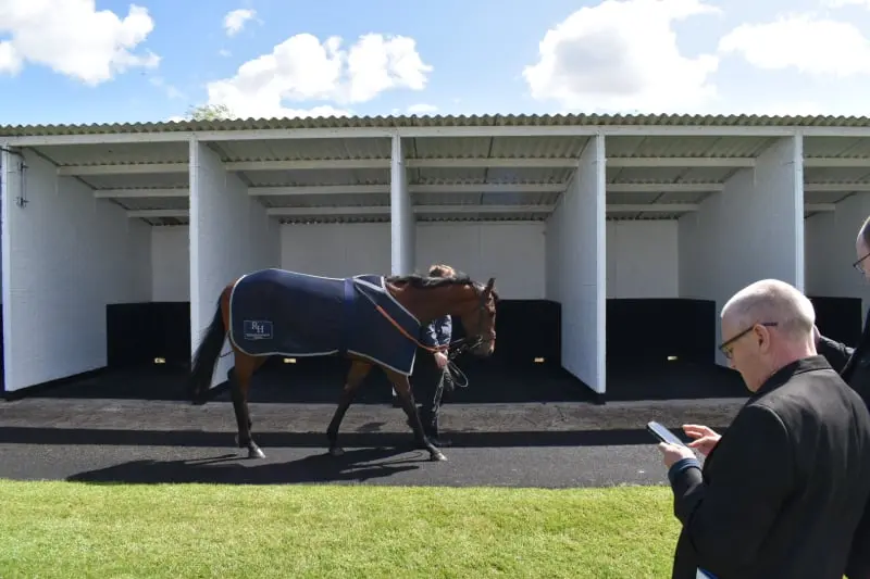
M 389 224 L 282 225 L 281 267 L 326 277 L 389 275 Z

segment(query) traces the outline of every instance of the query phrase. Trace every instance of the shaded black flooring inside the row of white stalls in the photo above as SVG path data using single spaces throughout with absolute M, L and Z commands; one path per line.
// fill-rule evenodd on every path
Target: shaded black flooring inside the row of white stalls
M 254 376 L 251 402 L 334 403 L 344 385 L 346 364 L 321 363 L 308 367 L 273 364 Z M 561 368 L 509 367 L 476 362 L 460 366 L 469 379 L 458 388 L 452 403 L 593 402 L 595 393 Z M 33 398 L 186 400 L 185 374 L 160 366 L 107 370 L 69 383 L 35 390 Z M 607 401 L 745 398 L 739 375 L 714 365 L 662 362 L 611 365 L 607 369 Z M 215 400 L 228 401 L 223 391 Z M 391 388 L 375 369 L 360 388 L 356 404 L 391 401 Z

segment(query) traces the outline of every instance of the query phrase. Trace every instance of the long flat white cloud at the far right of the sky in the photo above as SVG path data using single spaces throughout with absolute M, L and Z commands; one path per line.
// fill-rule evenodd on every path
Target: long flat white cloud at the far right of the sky
M 766 71 L 795 68 L 838 77 L 870 73 L 870 40 L 858 27 L 809 14 L 742 24 L 719 41 L 719 51 Z

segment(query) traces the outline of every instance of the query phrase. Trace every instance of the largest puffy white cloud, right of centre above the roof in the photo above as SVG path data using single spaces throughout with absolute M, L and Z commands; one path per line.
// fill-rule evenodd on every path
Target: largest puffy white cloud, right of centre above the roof
M 523 71 L 532 97 L 572 112 L 686 112 L 716 97 L 718 58 L 680 53 L 672 23 L 719 14 L 700 0 L 605 0 L 547 32 Z

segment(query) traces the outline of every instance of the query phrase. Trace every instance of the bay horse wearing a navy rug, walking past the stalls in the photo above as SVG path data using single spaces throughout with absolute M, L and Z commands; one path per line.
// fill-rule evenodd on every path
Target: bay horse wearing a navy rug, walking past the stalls
M 339 355 L 351 361 L 338 406 L 326 429 L 328 453 L 344 454 L 338 428 L 373 365 L 386 374 L 420 448 L 430 460 L 446 461 L 426 437 L 409 376 L 418 348 L 445 352 L 458 342 L 478 357 L 495 350 L 495 278 L 486 286 L 459 274 L 325 278 L 269 268 L 245 274 L 226 285 L 214 317 L 194 354 L 188 393 L 195 403 L 209 397 L 214 366 L 228 338 L 235 364 L 227 374 L 239 449 L 249 458 L 265 454 L 251 435 L 248 411 L 251 378 L 271 355 L 290 357 Z M 460 318 L 467 337 L 447 347 L 418 341 L 420 328 L 450 315 Z M 226 354 L 225 354 L 226 355 Z

